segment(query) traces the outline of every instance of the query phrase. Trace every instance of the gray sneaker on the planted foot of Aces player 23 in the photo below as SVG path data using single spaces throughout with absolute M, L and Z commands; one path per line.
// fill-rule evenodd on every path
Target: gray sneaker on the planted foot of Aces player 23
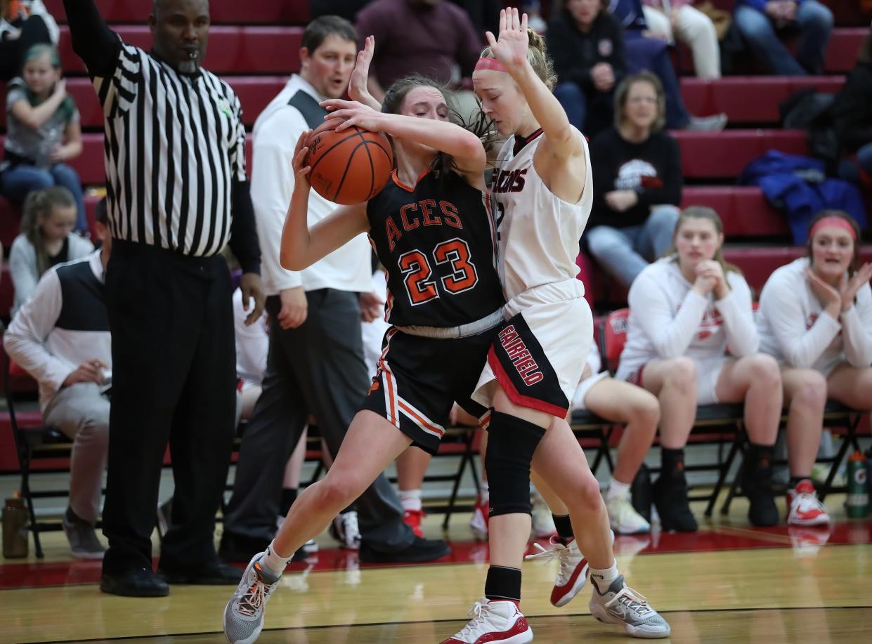
M 251 644 L 261 634 L 263 610 L 281 577 L 262 569 L 258 562 L 264 554 L 258 552 L 251 558 L 236 592 L 224 607 L 224 635 L 230 644 Z

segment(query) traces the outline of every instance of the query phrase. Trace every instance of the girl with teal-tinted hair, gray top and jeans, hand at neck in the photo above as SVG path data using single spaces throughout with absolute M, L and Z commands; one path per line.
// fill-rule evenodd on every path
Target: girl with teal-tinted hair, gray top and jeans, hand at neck
M 23 201 L 32 190 L 64 186 L 76 200 L 75 227 L 88 229 L 78 174 L 66 164 L 82 153 L 78 109 L 66 93 L 58 50 L 37 44 L 27 51 L 23 78 L 6 94 L 6 142 L 0 193 Z

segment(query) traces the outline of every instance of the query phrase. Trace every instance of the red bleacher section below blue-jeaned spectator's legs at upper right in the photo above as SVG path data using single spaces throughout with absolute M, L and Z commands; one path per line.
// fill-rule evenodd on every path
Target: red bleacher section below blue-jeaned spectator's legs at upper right
M 814 87 L 819 92 L 838 92 L 843 76 L 727 76 L 717 81 L 685 77 L 681 96 L 691 114 L 725 112 L 731 125 L 778 123 L 778 104 L 797 90 Z

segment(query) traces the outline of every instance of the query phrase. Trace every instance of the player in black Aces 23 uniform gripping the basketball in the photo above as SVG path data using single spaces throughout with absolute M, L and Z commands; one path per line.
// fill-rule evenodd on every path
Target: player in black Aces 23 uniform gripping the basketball
M 280 260 L 284 268 L 302 270 L 369 234 L 388 275 L 385 308 L 393 326 L 378 376 L 333 466 L 296 499 L 228 602 L 224 631 L 231 642 L 255 641 L 269 594 L 299 546 L 323 532 L 410 444 L 438 450 L 454 401 L 475 417 L 486 413 L 469 395 L 503 321 L 485 150 L 473 132 L 450 121 L 439 86 L 426 78 L 400 80 L 385 95 L 382 112 L 340 100 L 325 106 L 335 110 L 337 125 L 350 119 L 346 123 L 390 134 L 397 169 L 375 198 L 339 207 L 309 229 L 303 132 Z

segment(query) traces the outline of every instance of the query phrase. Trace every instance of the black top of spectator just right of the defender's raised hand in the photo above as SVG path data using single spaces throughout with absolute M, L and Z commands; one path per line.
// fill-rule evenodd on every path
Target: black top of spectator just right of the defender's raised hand
M 584 92 L 595 91 L 590 70 L 597 63 L 611 65 L 616 87 L 627 70 L 621 25 L 606 10 L 599 12 L 587 33 L 578 29 L 568 10 L 556 14 L 548 23 L 548 53 L 557 82 L 572 81 Z

